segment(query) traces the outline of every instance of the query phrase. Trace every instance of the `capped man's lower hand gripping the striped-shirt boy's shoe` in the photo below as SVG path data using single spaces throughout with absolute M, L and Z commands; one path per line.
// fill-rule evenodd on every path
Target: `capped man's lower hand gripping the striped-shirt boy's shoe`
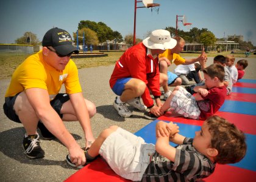
M 70 149 L 68 149 L 68 152 L 72 163 L 76 164 L 76 166 L 84 166 L 86 161 L 85 153 L 78 144 L 76 145 L 76 147 L 71 147 Z

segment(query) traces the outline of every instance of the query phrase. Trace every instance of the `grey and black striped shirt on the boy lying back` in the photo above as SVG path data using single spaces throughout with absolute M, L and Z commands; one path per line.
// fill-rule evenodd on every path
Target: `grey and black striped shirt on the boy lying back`
M 215 164 L 192 146 L 193 138 L 185 138 L 176 147 L 174 163 L 155 152 L 141 181 L 196 181 L 215 170 Z

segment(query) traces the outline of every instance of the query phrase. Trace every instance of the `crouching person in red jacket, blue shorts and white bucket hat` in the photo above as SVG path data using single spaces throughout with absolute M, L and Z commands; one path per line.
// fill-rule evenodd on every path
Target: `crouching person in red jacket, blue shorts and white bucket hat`
M 132 115 L 126 103 L 139 110 L 148 108 L 155 116 L 163 114 L 160 112 L 162 103 L 157 55 L 172 49 L 176 44 L 177 41 L 171 38 L 167 30 L 154 30 L 148 38 L 130 47 L 116 61 L 109 83 L 118 95 L 113 106 L 120 116 Z M 154 95 L 156 106 L 149 90 Z M 140 96 L 144 105 L 140 103 Z

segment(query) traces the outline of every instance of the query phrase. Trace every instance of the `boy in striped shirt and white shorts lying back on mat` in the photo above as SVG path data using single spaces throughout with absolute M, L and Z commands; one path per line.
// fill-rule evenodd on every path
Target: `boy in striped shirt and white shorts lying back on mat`
M 194 138 L 177 132 L 176 124 L 159 121 L 154 145 L 111 126 L 85 151 L 85 164 L 100 154 L 116 174 L 128 180 L 197 181 L 211 175 L 216 163 L 237 163 L 246 154 L 244 133 L 219 116 L 208 118 Z M 169 141 L 179 146 L 172 147 Z M 66 160 L 75 166 L 69 155 Z

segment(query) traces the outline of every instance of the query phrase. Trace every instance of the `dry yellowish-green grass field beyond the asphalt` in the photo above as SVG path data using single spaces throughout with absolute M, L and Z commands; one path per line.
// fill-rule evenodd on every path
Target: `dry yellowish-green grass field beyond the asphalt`
M 108 66 L 110 64 L 115 64 L 123 52 L 105 52 L 108 56 L 101 58 L 74 58 L 73 61 L 76 62 L 77 68 L 82 69 L 85 67 L 98 67 L 98 66 Z M 208 57 L 214 57 L 216 55 L 228 55 L 230 53 L 207 53 Z M 199 53 L 180 53 L 181 56 L 199 56 Z M 16 55 L 0 53 L 0 79 L 10 78 L 12 73 L 17 66 L 21 64 L 29 55 Z M 244 53 L 235 53 L 236 58 L 244 58 Z M 250 55 L 250 58 L 256 58 L 256 55 Z M 246 59 L 246 58 L 244 58 Z

